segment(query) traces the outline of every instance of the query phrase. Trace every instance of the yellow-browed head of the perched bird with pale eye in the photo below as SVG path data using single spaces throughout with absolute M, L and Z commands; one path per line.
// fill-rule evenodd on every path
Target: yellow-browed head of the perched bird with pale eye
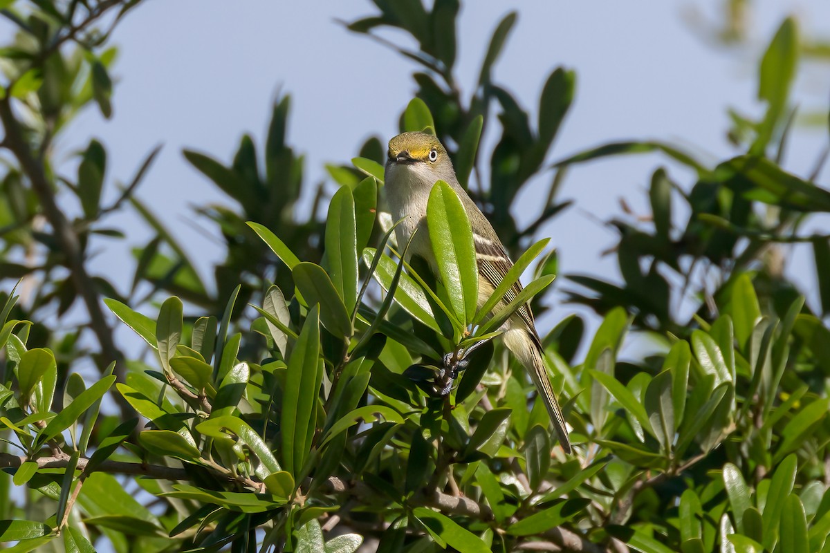
M 444 148 L 432 134 L 403 133 L 389 141 L 386 160 L 387 186 L 407 183 L 432 188 L 437 181 L 457 182 L 452 162 Z

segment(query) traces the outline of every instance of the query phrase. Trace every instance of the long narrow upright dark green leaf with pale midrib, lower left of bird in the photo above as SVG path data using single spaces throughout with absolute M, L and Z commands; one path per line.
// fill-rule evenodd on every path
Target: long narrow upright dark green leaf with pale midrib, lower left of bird
M 311 308 L 286 369 L 281 434 L 283 464 L 297 476 L 310 450 L 316 429 L 317 398 L 323 371 L 320 363 L 319 306 Z

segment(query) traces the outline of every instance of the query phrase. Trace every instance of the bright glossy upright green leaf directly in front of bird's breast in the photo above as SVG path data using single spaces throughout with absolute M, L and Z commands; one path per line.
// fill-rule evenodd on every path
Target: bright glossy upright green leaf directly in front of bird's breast
M 463 327 L 476 315 L 478 267 L 472 226 L 461 199 L 447 182 L 438 181 L 427 201 L 427 226 L 438 274 L 452 310 Z

